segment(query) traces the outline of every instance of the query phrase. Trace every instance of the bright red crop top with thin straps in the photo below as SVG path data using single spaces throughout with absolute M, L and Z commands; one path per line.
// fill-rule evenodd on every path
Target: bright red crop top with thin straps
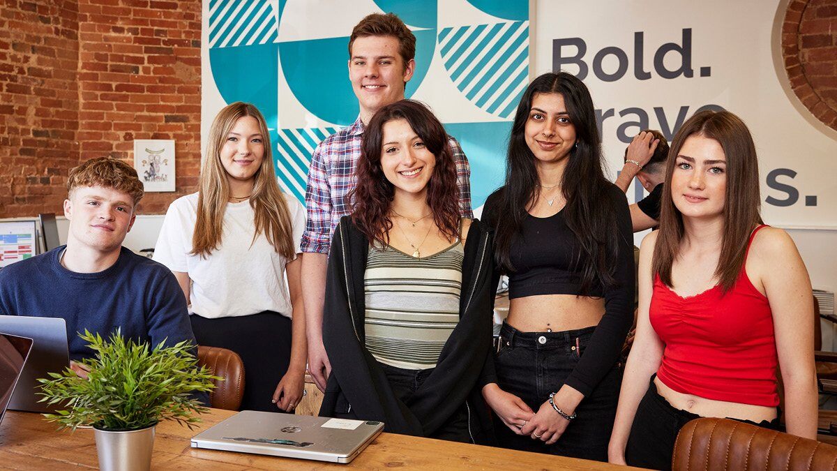
M 752 231 L 747 253 L 763 227 Z M 744 267 L 726 294 L 716 285 L 687 298 L 656 276 L 649 316 L 665 343 L 657 370 L 665 386 L 716 401 L 778 406 L 773 312 Z

